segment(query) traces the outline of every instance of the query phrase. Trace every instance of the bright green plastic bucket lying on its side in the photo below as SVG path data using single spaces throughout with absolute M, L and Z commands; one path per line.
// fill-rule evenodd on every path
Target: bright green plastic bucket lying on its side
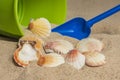
M 0 34 L 19 38 L 22 26 L 30 19 L 45 17 L 51 23 L 61 24 L 66 19 L 66 0 L 0 0 Z

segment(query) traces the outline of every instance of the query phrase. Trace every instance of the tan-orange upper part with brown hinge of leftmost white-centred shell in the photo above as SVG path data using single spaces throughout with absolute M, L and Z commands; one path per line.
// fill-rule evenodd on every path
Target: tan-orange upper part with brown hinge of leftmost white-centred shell
M 43 50 L 44 41 L 36 36 L 26 35 L 21 37 L 18 46 L 22 47 L 25 43 L 31 44 L 39 52 Z

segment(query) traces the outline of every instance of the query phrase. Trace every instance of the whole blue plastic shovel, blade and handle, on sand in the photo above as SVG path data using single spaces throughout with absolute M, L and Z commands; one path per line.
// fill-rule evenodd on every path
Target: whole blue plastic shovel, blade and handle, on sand
M 91 27 L 93 24 L 119 11 L 120 4 L 88 21 L 80 17 L 74 18 L 58 27 L 53 28 L 52 32 L 58 32 L 62 35 L 70 36 L 81 40 L 90 35 Z

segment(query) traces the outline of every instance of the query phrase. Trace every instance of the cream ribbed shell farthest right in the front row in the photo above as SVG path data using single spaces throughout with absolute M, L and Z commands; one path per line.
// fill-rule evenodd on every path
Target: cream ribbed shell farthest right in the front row
M 105 56 L 100 52 L 85 53 L 86 65 L 88 66 L 101 66 L 106 63 Z

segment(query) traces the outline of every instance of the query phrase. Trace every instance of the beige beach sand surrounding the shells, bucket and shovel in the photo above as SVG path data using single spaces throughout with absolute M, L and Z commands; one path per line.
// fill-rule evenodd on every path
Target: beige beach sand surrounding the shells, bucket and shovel
M 90 19 L 119 4 L 120 0 L 68 0 L 67 20 L 81 16 Z M 120 13 L 92 28 L 90 37 L 104 43 L 102 53 L 107 63 L 100 67 L 84 66 L 76 70 L 68 64 L 55 68 L 39 67 L 32 62 L 28 67 L 18 67 L 13 61 L 17 40 L 0 36 L 0 80 L 120 80 Z M 62 38 L 74 45 L 78 40 L 52 33 L 49 39 Z

